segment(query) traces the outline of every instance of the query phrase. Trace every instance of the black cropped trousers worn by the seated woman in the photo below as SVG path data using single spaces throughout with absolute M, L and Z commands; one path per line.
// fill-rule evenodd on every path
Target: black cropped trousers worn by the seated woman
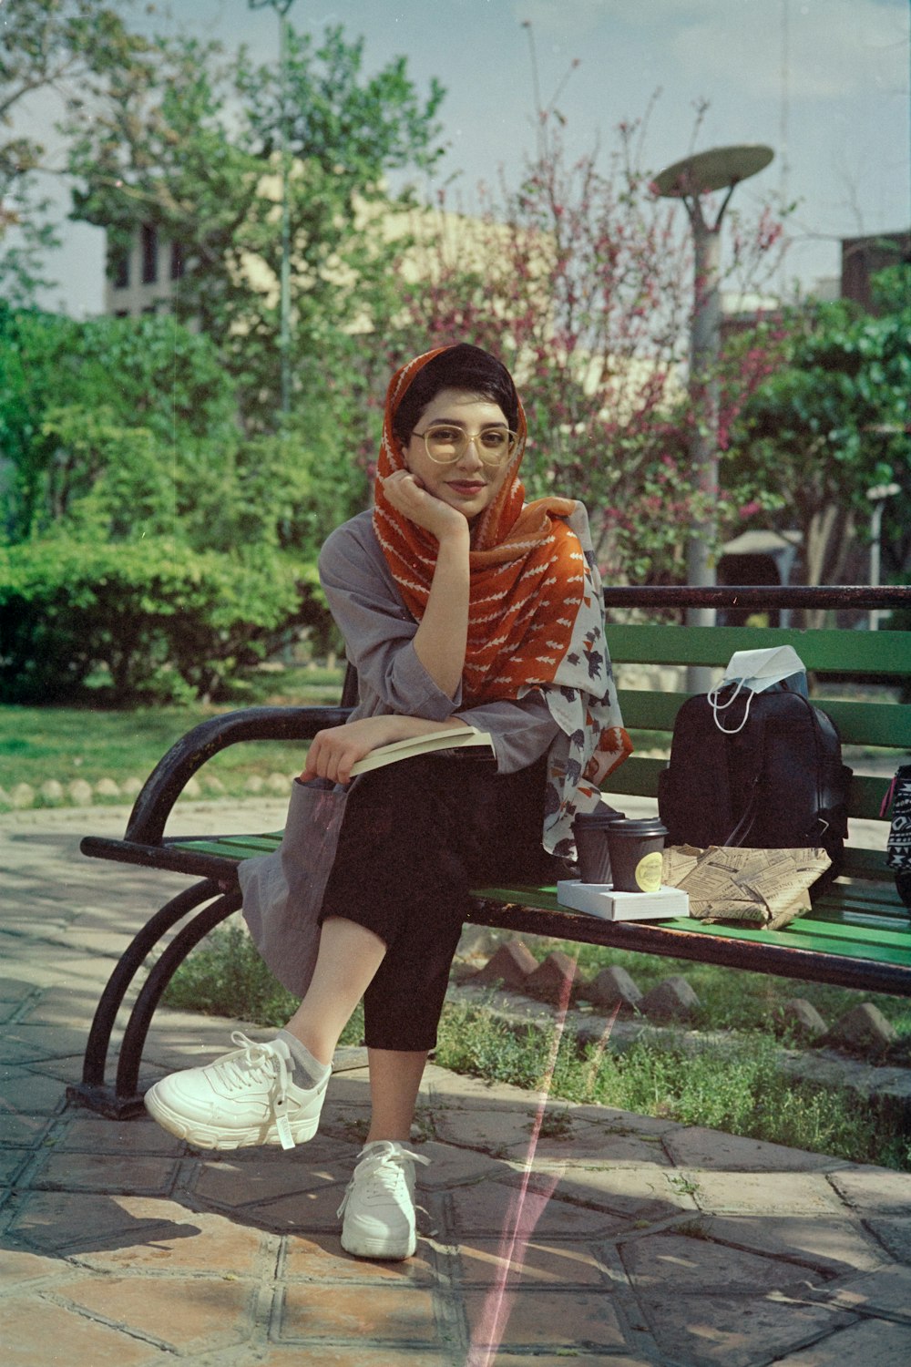
M 541 845 L 544 796 L 544 759 L 499 774 L 490 760 L 425 755 L 352 785 L 321 920 L 356 921 L 387 946 L 363 998 L 369 1047 L 436 1046 L 471 887 L 563 872 Z

